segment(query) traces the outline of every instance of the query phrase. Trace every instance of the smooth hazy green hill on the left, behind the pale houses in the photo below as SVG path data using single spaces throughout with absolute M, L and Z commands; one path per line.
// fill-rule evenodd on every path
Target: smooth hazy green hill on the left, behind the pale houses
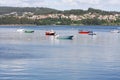
M 32 12 L 35 15 L 37 14 L 50 14 L 57 13 L 59 10 L 43 8 L 43 7 L 0 7 L 0 15 L 9 14 L 12 12 L 17 12 L 19 15 L 22 15 L 24 12 Z

